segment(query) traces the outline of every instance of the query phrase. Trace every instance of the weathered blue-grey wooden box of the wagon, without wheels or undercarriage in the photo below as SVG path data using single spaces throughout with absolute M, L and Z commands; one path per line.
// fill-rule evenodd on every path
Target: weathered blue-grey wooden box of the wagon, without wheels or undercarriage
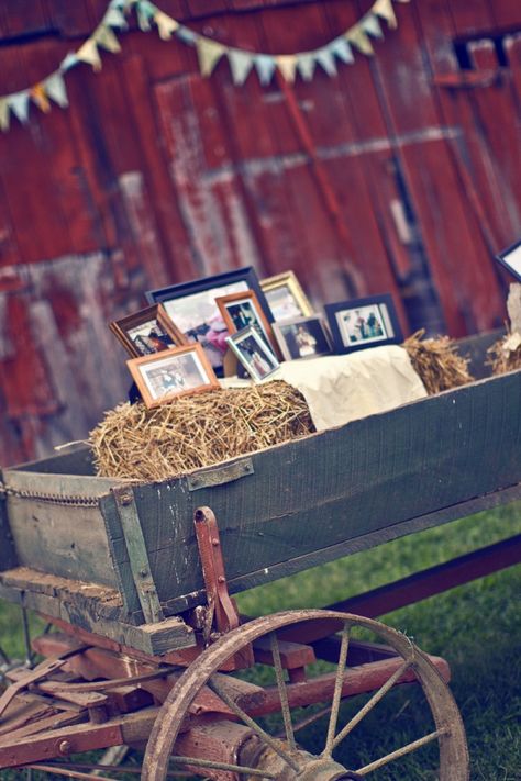
M 478 368 L 489 342 L 464 342 Z M 5 469 L 0 596 L 146 652 L 190 646 L 198 507 L 243 591 L 521 498 L 520 409 L 514 371 L 157 483 L 95 477 L 87 447 Z

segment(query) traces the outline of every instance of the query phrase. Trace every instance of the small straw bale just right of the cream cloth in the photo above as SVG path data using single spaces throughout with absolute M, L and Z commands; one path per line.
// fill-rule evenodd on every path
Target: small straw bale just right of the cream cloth
M 467 370 L 468 359 L 456 353 L 448 336 L 423 339 L 424 331 L 417 331 L 403 343 L 414 371 L 420 376 L 426 392 L 432 395 L 443 390 L 473 382 Z

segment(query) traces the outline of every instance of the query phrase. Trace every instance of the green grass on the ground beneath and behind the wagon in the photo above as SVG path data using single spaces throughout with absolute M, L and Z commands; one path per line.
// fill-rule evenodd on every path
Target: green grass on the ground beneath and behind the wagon
M 322 607 L 509 537 L 520 528 L 520 503 L 500 507 L 252 589 L 239 595 L 240 610 L 253 616 Z M 467 732 L 472 781 L 521 781 L 520 595 L 518 566 L 383 617 L 422 649 L 450 662 L 451 688 Z M 0 605 L 0 644 L 22 656 L 15 617 L 15 609 Z M 352 702 L 346 710 L 354 706 Z M 421 693 L 415 687 L 403 687 L 391 692 L 351 739 L 355 739 L 357 758 L 369 761 L 430 728 Z M 308 730 L 304 737 L 310 746 L 320 745 L 321 732 L 322 724 Z M 436 776 L 426 766 L 428 751 L 370 779 L 434 781 Z M 0 778 L 23 779 L 23 774 L 4 772 Z M 38 776 L 33 778 L 36 781 Z

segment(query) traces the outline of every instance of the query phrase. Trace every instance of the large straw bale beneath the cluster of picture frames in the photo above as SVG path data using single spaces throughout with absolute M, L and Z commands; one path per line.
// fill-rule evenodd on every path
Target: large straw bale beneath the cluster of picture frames
M 314 431 L 302 394 L 282 381 L 121 404 L 90 432 L 100 477 L 165 480 Z

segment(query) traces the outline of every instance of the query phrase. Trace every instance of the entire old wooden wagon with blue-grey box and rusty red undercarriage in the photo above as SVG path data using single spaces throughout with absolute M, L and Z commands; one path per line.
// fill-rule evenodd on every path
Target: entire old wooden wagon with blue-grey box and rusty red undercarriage
M 466 344 L 477 366 L 486 346 Z M 4 470 L 0 595 L 57 632 L 34 640 L 45 661 L 10 673 L 0 767 L 147 744 L 147 781 L 173 768 L 333 781 L 431 743 L 442 781 L 468 779 L 446 663 L 372 616 L 519 561 L 519 537 L 323 611 L 241 620 L 230 593 L 520 499 L 520 410 L 517 371 L 162 483 L 93 477 L 81 447 Z M 355 641 L 358 627 L 384 645 Z M 243 673 L 254 663 L 271 671 L 266 685 Z M 335 761 L 404 681 L 423 689 L 433 730 Z M 373 691 L 341 727 L 341 701 Z M 325 747 L 306 751 L 298 730 L 324 711 Z M 274 712 L 275 736 L 262 721 Z

